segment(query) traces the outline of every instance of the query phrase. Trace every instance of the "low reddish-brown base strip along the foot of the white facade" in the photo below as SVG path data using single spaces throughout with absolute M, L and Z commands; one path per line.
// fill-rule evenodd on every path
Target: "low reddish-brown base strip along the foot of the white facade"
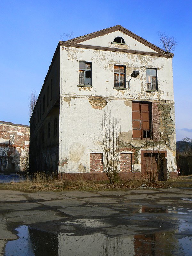
M 120 180 L 141 180 L 142 176 L 140 172 L 121 172 L 119 173 Z M 177 172 L 170 172 L 170 178 L 177 177 Z M 106 173 L 59 173 L 58 174 L 59 179 L 64 180 L 77 180 L 77 179 L 83 179 L 83 180 L 97 180 L 97 181 L 103 181 L 108 180 L 108 177 Z

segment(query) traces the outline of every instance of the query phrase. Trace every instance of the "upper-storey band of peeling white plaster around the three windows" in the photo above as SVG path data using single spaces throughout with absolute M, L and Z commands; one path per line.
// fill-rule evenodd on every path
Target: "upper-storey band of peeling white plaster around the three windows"
M 77 86 L 79 61 L 92 62 L 92 88 Z M 126 65 L 126 81 L 129 81 L 134 70 L 140 71 L 139 76 L 130 81 L 129 90 L 113 89 L 114 64 Z M 159 92 L 146 92 L 146 68 L 157 68 Z M 124 100 L 174 100 L 172 58 L 63 46 L 61 70 L 60 94 L 67 97 L 92 95 Z

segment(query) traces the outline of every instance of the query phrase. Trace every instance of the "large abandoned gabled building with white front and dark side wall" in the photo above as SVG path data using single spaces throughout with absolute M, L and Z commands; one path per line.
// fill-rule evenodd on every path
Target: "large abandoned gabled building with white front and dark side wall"
M 30 170 L 104 179 L 92 138 L 110 110 L 121 121 L 121 174 L 156 170 L 161 155 L 158 179 L 174 176 L 173 55 L 120 25 L 59 41 L 30 119 Z

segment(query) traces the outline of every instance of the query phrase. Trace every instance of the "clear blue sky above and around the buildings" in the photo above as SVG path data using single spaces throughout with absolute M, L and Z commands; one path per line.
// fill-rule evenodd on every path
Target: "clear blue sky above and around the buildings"
M 28 97 L 33 89 L 40 92 L 63 33 L 77 37 L 117 24 L 156 45 L 158 31 L 178 41 L 176 137 L 192 138 L 191 1 L 1 1 L 0 120 L 29 124 Z

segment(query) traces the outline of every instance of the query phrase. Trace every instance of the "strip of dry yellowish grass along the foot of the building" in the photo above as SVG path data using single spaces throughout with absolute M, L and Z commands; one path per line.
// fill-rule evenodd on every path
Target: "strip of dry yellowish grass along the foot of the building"
M 143 188 L 141 180 L 119 180 L 110 185 L 109 181 L 84 180 L 81 177 L 76 180 L 58 180 L 54 174 L 36 172 L 33 176 L 27 174 L 26 180 L 20 182 L 1 183 L 1 190 L 19 190 L 24 192 L 36 191 L 64 191 L 64 190 L 127 190 Z M 170 187 L 192 187 L 192 175 L 180 176 L 166 182 L 156 182 L 145 188 L 170 188 Z

